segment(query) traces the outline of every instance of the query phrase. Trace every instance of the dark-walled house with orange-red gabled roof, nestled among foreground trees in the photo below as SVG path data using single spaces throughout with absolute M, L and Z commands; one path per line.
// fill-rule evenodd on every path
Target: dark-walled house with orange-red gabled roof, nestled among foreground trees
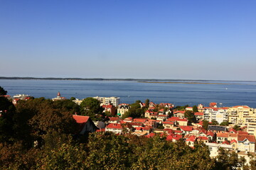
M 78 133 L 85 135 L 88 132 L 95 132 L 99 128 L 92 122 L 90 116 L 85 115 L 73 115 L 76 123 L 78 123 Z

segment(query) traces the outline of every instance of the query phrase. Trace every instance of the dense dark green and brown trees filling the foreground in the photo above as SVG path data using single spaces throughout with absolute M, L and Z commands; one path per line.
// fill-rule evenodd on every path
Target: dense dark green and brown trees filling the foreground
M 159 135 L 78 136 L 72 115 L 83 110 L 71 100 L 31 98 L 14 106 L 0 96 L 0 169 L 256 169 L 255 159 L 247 166 L 223 149 L 213 159 L 202 143 L 191 148 Z

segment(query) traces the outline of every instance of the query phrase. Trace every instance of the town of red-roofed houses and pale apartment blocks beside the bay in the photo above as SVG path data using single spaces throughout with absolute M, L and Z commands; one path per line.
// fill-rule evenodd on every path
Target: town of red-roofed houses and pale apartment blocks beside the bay
M 7 98 L 10 96 L 6 96 Z M 18 100 L 28 100 L 31 96 L 16 95 L 13 98 L 14 104 Z M 166 140 L 176 142 L 183 140 L 190 147 L 196 142 L 204 142 L 210 149 L 210 156 L 218 154 L 218 148 L 223 147 L 234 150 L 238 154 L 255 154 L 256 135 L 256 109 L 248 106 L 217 107 L 217 103 L 210 103 L 208 107 L 199 104 L 197 112 L 193 113 L 197 123 L 191 123 L 185 116 L 186 111 L 193 112 L 192 107 L 184 111 L 177 111 L 171 103 L 140 103 L 141 108 L 146 108 L 144 118 L 124 118 L 124 113 L 129 111 L 130 105 L 120 103 L 119 98 L 95 97 L 101 101 L 104 112 L 109 112 L 112 117 L 107 122 L 92 122 L 90 117 L 73 115 L 73 118 L 80 125 L 80 134 L 86 132 L 114 132 L 116 134 L 131 133 L 132 135 L 154 137 L 160 135 Z M 58 95 L 55 100 L 65 98 Z M 80 102 L 80 101 L 79 101 Z M 76 103 L 79 104 L 78 101 Z M 203 120 L 218 124 L 226 122 L 228 126 L 208 125 L 203 128 Z M 97 126 L 96 126 L 97 125 Z M 241 130 L 234 130 L 234 125 L 240 126 Z

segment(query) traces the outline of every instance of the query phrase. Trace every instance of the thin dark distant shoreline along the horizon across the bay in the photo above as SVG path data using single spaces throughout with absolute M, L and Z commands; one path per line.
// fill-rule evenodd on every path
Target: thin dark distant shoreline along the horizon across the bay
M 38 78 L 38 77 L 0 77 L 0 79 L 38 79 L 38 80 L 95 80 L 95 81 L 138 81 L 140 83 L 164 83 L 164 84 L 228 84 L 228 83 L 214 83 L 210 82 L 207 83 L 207 81 L 237 81 L 237 82 L 243 82 L 239 80 L 201 80 L 201 79 L 104 79 L 104 78 L 58 78 L 58 77 L 44 77 L 44 78 Z M 169 81 L 169 82 L 163 82 L 163 81 Z M 171 82 L 170 82 L 171 81 Z M 198 82 L 203 81 L 203 82 Z M 250 82 L 256 82 L 256 81 L 250 81 Z

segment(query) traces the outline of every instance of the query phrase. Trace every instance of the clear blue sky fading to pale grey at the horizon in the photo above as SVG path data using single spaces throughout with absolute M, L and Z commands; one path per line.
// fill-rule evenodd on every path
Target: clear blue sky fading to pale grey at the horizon
M 0 0 L 0 76 L 256 80 L 256 1 Z

